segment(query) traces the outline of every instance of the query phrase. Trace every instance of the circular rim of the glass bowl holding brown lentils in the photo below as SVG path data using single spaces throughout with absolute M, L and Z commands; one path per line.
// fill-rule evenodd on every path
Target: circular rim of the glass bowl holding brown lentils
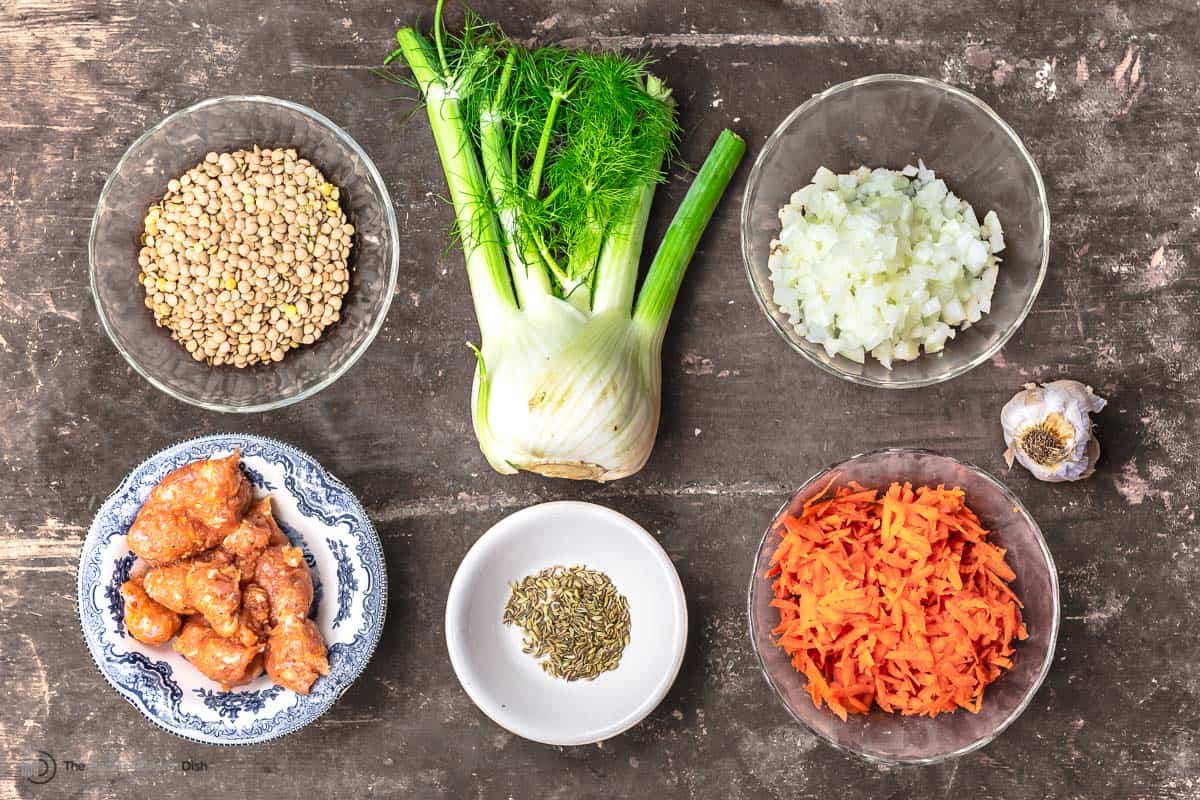
M 251 405 L 232 405 L 229 403 L 202 401 L 199 398 L 191 397 L 175 389 L 172 389 L 158 378 L 155 378 L 152 374 L 150 374 L 148 369 L 145 369 L 138 362 L 137 359 L 133 357 L 131 353 L 128 353 L 116 341 L 116 333 L 113 327 L 113 323 L 109 320 L 108 314 L 106 313 L 104 307 L 100 301 L 100 293 L 96 290 L 96 282 L 97 282 L 96 239 L 100 228 L 100 209 L 103 206 L 104 198 L 108 197 L 108 193 L 112 190 L 113 182 L 115 181 L 116 176 L 121 173 L 121 170 L 126 167 L 126 163 L 132 157 L 133 151 L 137 150 L 137 148 L 142 145 L 146 139 L 156 134 L 160 130 L 162 130 L 163 126 L 168 125 L 169 122 L 176 119 L 180 119 L 188 114 L 193 114 L 199 110 L 204 110 L 214 106 L 224 106 L 239 102 L 278 106 L 281 108 L 286 108 L 288 110 L 302 114 L 310 118 L 311 120 L 316 121 L 320 127 L 328 130 L 330 133 L 332 133 L 332 136 L 336 139 L 338 139 L 342 144 L 344 144 L 352 151 L 354 151 L 354 154 L 362 160 L 362 163 L 366 166 L 368 179 L 371 184 L 374 185 L 374 190 L 379 193 L 379 199 L 384 207 L 384 219 L 385 219 L 384 227 L 388 230 L 388 240 L 391 247 L 391 258 L 389 259 L 390 263 L 388 264 L 388 284 L 385 287 L 385 296 L 383 306 L 380 307 L 379 313 L 377 314 L 374 321 L 371 324 L 371 327 L 367 330 L 367 333 L 364 337 L 362 342 L 360 342 L 359 345 L 354 349 L 354 351 L 350 353 L 349 357 L 344 361 L 344 363 L 338 366 L 336 369 L 330 371 L 329 374 L 323 377 L 320 380 L 313 383 L 311 386 L 307 386 L 306 389 L 295 393 L 292 397 L 276 398 L 262 403 L 254 403 Z M 108 174 L 108 178 L 104 180 L 104 186 L 100 190 L 100 197 L 96 201 L 95 209 L 92 210 L 91 229 L 88 234 L 88 283 L 91 290 L 92 302 L 96 306 L 96 313 L 100 317 L 100 323 L 104 327 L 104 332 L 108 335 L 108 339 L 109 342 L 113 343 L 113 347 L 115 347 L 118 353 L 121 354 L 125 361 L 131 367 L 133 367 L 133 371 L 137 372 L 139 375 L 142 375 L 142 378 L 144 378 L 146 383 L 149 383 L 155 389 L 184 403 L 197 405 L 199 408 L 204 408 L 210 411 L 222 411 L 227 414 L 253 414 L 258 411 L 270 411 L 274 409 L 284 408 L 287 405 L 292 405 L 293 403 L 299 403 L 304 399 L 307 399 L 308 397 L 312 397 L 317 392 L 328 389 L 330 385 L 332 385 L 334 381 L 336 381 L 338 378 L 346 374 L 350 369 L 350 367 L 358 363 L 359 359 L 362 357 L 362 354 L 366 353 L 367 348 L 370 348 L 371 344 L 374 342 L 376 336 L 378 336 L 379 331 L 383 330 L 383 325 L 388 319 L 388 311 L 391 308 L 392 297 L 396 294 L 396 282 L 398 277 L 400 277 L 400 227 L 396 221 L 396 209 L 392 206 L 391 194 L 388 192 L 388 185 L 384 182 L 383 176 L 379 174 L 379 170 L 376 167 L 374 162 L 366 154 L 362 146 L 359 145 L 359 143 L 354 139 L 354 137 L 352 137 L 341 126 L 338 126 L 336 122 L 330 120 L 320 112 L 308 108 L 307 106 L 292 102 L 289 100 L 281 100 L 278 97 L 271 97 L 269 95 L 224 95 L 221 97 L 209 97 L 197 103 L 192 103 L 191 106 L 187 106 L 185 108 L 180 108 L 175 112 L 172 112 L 162 120 L 160 120 L 151 127 L 146 128 L 137 139 L 133 140 L 132 144 L 130 144 L 128 148 L 126 148 L 125 152 L 121 154 L 120 160 L 118 160 L 116 164 Z

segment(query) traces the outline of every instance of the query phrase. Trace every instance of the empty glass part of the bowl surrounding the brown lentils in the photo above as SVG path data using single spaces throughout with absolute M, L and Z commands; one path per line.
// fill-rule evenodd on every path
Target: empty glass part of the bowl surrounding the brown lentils
M 350 289 L 341 318 L 320 339 L 278 362 L 238 369 L 193 360 L 155 324 L 138 284 L 146 207 L 167 181 L 209 151 L 252 145 L 295 148 L 341 190 L 354 225 Z M 88 242 L 91 291 L 113 344 L 143 378 L 176 399 L 217 411 L 265 411 L 337 380 L 383 326 L 400 270 L 400 234 L 388 187 L 344 131 L 317 112 L 274 97 L 206 100 L 146 131 L 116 163 L 100 193 Z

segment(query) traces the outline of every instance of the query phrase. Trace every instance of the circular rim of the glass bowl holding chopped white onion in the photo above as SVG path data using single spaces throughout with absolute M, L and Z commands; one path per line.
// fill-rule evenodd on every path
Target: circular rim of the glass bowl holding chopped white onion
M 826 361 L 821 360 L 820 357 L 815 356 L 814 354 L 809 353 L 803 347 L 800 347 L 797 341 L 797 337 L 799 335 L 796 333 L 794 330 L 786 327 L 782 323 L 780 323 L 780 320 L 775 319 L 775 315 L 773 313 L 774 302 L 763 296 L 763 294 L 758 290 L 758 284 L 755 282 L 754 261 L 750 257 L 750 224 L 749 224 L 750 196 L 754 193 L 755 190 L 757 190 L 758 182 L 762 180 L 762 173 L 766 168 L 764 166 L 767 157 L 770 154 L 773 154 L 775 149 L 779 146 L 779 142 L 784 138 L 787 127 L 791 126 L 792 122 L 794 122 L 800 115 L 812 110 L 822 101 L 828 100 L 834 95 L 839 95 L 844 91 L 851 91 L 859 86 L 865 86 L 876 83 L 889 83 L 889 82 L 910 83 L 910 84 L 918 84 L 922 86 L 929 86 L 931 89 L 943 91 L 948 95 L 953 95 L 959 100 L 964 100 L 968 104 L 974 106 L 977 109 L 982 110 L 1001 131 L 1008 134 L 1008 138 L 1013 142 L 1014 145 L 1016 145 L 1016 150 L 1021 155 L 1021 158 L 1025 161 L 1025 164 L 1033 173 L 1033 180 L 1038 188 L 1038 206 L 1042 210 L 1042 264 L 1038 267 L 1038 277 L 1037 281 L 1033 283 L 1033 290 L 1030 293 L 1028 299 L 1025 301 L 1025 306 L 1016 315 L 1016 319 L 1013 320 L 1013 324 L 1009 325 L 1006 330 L 1003 330 L 1000 337 L 991 345 L 980 350 L 974 357 L 970 359 L 965 363 L 959 365 L 954 369 L 949 369 L 938 375 L 932 375 L 926 378 L 912 378 L 907 380 L 881 380 L 878 378 L 871 378 L 869 375 L 860 375 L 845 372 L 844 369 L 840 369 L 833 363 L 827 363 Z M 746 187 L 742 194 L 740 239 L 742 239 L 742 261 L 745 266 L 746 278 L 750 281 L 750 289 L 754 293 L 755 300 L 758 302 L 758 307 L 762 309 L 763 314 L 766 314 L 767 319 L 770 321 L 770 326 L 775 330 L 776 333 L 779 333 L 784 338 L 785 342 L 787 342 L 787 344 L 793 350 L 803 355 L 809 362 L 816 365 L 823 372 L 830 375 L 836 375 L 838 378 L 848 380 L 851 383 L 862 386 L 872 386 L 875 389 L 920 389 L 924 386 L 934 386 L 936 384 L 952 380 L 954 378 L 958 378 L 959 375 L 970 372 L 971 369 L 974 369 L 980 363 L 988 361 L 991 356 L 996 355 L 1001 350 L 1001 348 L 1003 348 L 1004 344 L 1008 343 L 1008 339 L 1010 339 L 1013 335 L 1016 333 L 1016 330 L 1025 323 L 1025 318 L 1028 317 L 1030 311 L 1033 309 L 1033 303 L 1037 301 L 1038 294 L 1042 291 L 1042 284 L 1045 281 L 1046 271 L 1050 265 L 1050 204 L 1049 200 L 1046 199 L 1046 188 L 1045 188 L 1045 182 L 1042 179 L 1042 170 L 1038 169 L 1037 162 L 1033 161 L 1033 156 L 1030 155 L 1030 151 L 1025 146 L 1025 143 L 1021 142 L 1021 138 L 1016 134 L 1013 127 L 1008 122 L 1006 122 L 1003 118 L 1001 118 L 1000 114 L 997 114 L 995 109 L 991 108 L 991 106 L 979 100 L 976 95 L 968 91 L 965 91 L 956 86 L 952 86 L 947 83 L 936 80 L 934 78 L 925 78 L 922 76 L 910 76 L 899 72 L 881 72 L 877 74 L 865 76 L 863 78 L 845 80 L 834 86 L 830 86 L 829 89 L 826 89 L 822 92 L 812 95 L 810 98 L 797 106 L 791 114 L 784 118 L 784 121 L 780 122 L 778 127 L 775 127 L 775 130 L 772 132 L 769 137 L 767 137 L 767 142 L 758 151 L 758 156 L 757 158 L 755 158 L 754 167 L 750 169 L 750 176 L 746 179 Z M 935 356 L 922 354 L 919 357 L 924 359 Z

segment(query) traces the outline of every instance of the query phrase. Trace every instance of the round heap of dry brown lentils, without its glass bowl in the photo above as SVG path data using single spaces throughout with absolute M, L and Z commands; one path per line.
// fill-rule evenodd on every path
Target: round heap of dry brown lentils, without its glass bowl
M 146 308 L 197 361 L 282 361 L 336 323 L 354 227 L 341 192 L 293 149 L 205 155 L 149 207 Z

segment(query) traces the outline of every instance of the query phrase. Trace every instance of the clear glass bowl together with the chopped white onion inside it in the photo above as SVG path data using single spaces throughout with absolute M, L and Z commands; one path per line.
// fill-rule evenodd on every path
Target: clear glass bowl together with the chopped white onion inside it
M 1013 128 L 968 92 L 902 74 L 793 110 L 742 205 L 743 258 L 775 331 L 826 372 L 882 389 L 995 355 L 1033 306 L 1049 234 L 1042 175 Z

